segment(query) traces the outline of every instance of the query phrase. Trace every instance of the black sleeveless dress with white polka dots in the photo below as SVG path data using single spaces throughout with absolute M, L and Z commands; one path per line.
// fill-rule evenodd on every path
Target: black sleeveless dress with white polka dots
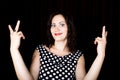
M 47 51 L 43 45 L 37 46 L 40 52 L 39 80 L 74 80 L 76 64 L 81 51 L 65 56 L 57 56 Z

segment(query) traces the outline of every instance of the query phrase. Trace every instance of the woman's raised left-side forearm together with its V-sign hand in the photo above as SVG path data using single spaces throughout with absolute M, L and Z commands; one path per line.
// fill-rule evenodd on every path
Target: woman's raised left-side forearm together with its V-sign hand
M 33 75 L 27 69 L 24 60 L 20 54 L 19 46 L 20 46 L 20 39 L 25 39 L 23 33 L 18 31 L 20 25 L 20 21 L 18 20 L 17 25 L 15 27 L 15 31 L 9 25 L 10 31 L 10 53 L 13 61 L 13 65 L 15 68 L 16 75 L 19 80 L 34 80 Z

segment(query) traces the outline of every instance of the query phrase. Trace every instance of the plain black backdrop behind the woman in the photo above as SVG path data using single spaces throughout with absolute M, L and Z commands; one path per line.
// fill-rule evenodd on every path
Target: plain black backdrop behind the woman
M 21 43 L 21 54 L 29 68 L 37 44 L 45 40 L 48 15 L 55 10 L 65 10 L 74 17 L 78 47 L 84 51 L 88 70 L 96 56 L 93 41 L 101 36 L 102 26 L 108 30 L 106 58 L 98 80 L 116 80 L 118 71 L 118 31 L 120 8 L 115 0 L 1 0 L 0 2 L 0 59 L 3 80 L 17 80 L 9 52 L 8 24 L 15 27 L 21 20 L 20 30 L 26 36 Z M 117 64 L 116 64 L 117 62 Z

